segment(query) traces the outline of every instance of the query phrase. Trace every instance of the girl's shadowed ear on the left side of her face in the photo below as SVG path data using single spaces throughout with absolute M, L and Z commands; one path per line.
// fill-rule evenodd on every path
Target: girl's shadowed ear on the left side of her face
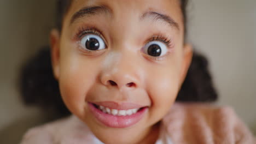
M 59 79 L 60 75 L 60 33 L 57 29 L 51 30 L 50 33 L 51 46 L 51 65 L 55 79 Z

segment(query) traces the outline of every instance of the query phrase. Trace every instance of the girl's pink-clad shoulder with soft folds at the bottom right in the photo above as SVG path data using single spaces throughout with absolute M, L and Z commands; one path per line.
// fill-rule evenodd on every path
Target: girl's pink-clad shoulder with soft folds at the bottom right
M 176 103 L 162 123 L 174 143 L 251 144 L 254 139 L 230 106 Z

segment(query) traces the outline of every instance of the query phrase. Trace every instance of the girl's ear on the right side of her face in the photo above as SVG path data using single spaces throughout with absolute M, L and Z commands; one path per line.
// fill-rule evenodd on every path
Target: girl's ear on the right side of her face
M 191 60 L 193 57 L 193 49 L 190 44 L 185 44 L 183 47 L 183 62 L 182 62 L 182 69 L 181 69 L 181 85 L 187 76 L 189 66 L 191 64 Z

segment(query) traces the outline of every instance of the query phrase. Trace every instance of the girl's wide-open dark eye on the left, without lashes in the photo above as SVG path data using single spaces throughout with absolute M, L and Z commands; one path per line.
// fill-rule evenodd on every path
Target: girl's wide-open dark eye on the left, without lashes
M 85 35 L 81 39 L 81 45 L 84 49 L 89 51 L 97 51 L 106 49 L 104 40 L 96 34 Z

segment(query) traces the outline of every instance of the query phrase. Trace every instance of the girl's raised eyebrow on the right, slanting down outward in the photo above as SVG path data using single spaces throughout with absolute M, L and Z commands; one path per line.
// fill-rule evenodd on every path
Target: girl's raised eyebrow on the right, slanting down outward
M 155 11 L 147 11 L 141 17 L 142 17 L 142 19 L 144 19 L 146 17 L 152 17 L 155 21 L 160 20 L 160 21 L 167 22 L 171 27 L 174 27 L 174 28 L 179 30 L 178 23 L 176 21 L 174 21 L 172 19 L 172 17 L 170 17 L 168 15 L 160 14 L 160 13 L 157 13 Z

